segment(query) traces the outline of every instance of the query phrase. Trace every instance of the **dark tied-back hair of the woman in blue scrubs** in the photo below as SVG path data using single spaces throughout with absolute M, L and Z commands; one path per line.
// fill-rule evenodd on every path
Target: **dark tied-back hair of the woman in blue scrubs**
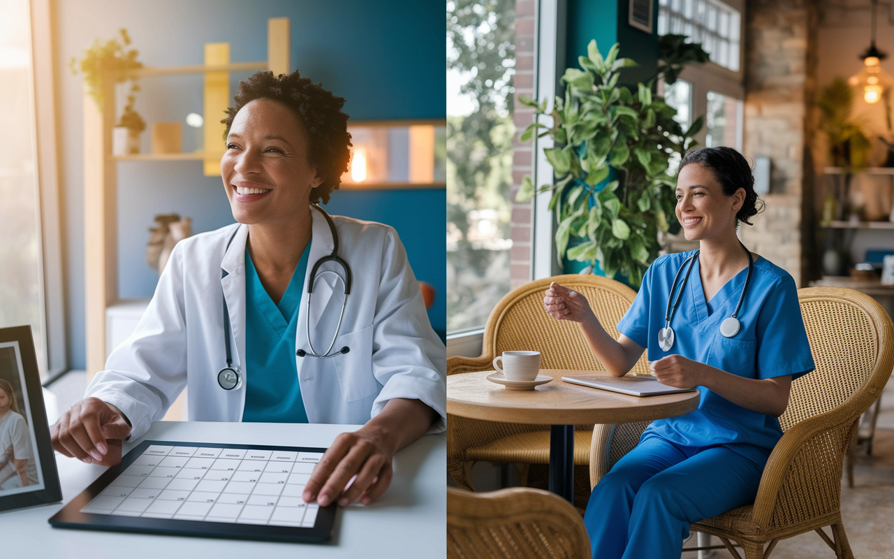
M 687 151 L 677 167 L 678 176 L 683 167 L 694 163 L 713 171 L 717 182 L 721 183 L 724 195 L 732 196 L 738 189 L 745 190 L 745 201 L 736 213 L 738 221 L 751 225 L 748 219 L 763 212 L 763 200 L 757 198 L 755 175 L 751 172 L 751 165 L 748 165 L 746 158 L 738 151 L 723 146 Z

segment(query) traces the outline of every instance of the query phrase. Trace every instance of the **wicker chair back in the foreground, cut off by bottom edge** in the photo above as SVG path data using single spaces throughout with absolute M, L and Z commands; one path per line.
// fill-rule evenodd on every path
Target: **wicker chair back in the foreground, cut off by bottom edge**
M 447 557 L 589 559 L 590 538 L 574 507 L 548 491 L 447 487 Z

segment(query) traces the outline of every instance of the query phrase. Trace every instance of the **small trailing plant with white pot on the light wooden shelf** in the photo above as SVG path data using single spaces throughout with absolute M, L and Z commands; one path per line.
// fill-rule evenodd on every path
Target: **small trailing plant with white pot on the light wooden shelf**
M 84 51 L 84 57 L 78 61 L 72 56 L 69 67 L 72 73 L 80 70 L 84 74 L 84 82 L 90 97 L 96 101 L 102 110 L 105 102 L 103 94 L 103 80 L 114 80 L 114 83 L 131 81 L 131 91 L 127 96 L 127 106 L 113 131 L 112 153 L 122 156 L 131 153 L 139 153 L 139 134 L 146 129 L 146 123 L 133 109 L 136 100 L 136 92 L 139 84 L 130 72 L 142 68 L 143 64 L 137 60 L 139 52 L 128 49 L 131 45 L 131 37 L 126 29 L 120 30 L 118 37 L 109 40 L 96 39 L 93 45 Z

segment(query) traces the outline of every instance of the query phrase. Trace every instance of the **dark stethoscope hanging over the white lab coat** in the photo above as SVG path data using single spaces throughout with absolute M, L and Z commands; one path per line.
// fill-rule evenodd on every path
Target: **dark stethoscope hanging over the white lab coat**
M 335 231 L 335 224 L 333 223 L 332 217 L 327 214 L 323 208 L 320 208 L 316 204 L 311 204 L 311 208 L 316 208 L 320 214 L 325 217 L 326 223 L 329 224 L 329 230 L 333 235 L 333 251 L 332 253 L 326 255 L 323 258 L 319 258 L 314 263 L 314 266 L 310 268 L 310 276 L 308 277 L 308 310 L 307 310 L 307 322 L 306 322 L 306 335 L 308 336 L 308 347 L 310 351 L 305 351 L 303 349 L 299 349 L 295 352 L 295 355 L 298 357 L 318 357 L 320 359 L 325 359 L 329 357 L 335 357 L 336 355 L 342 355 L 343 353 L 347 353 L 350 351 L 350 348 L 345 345 L 340 350 L 333 351 L 333 346 L 335 345 L 335 340 L 338 339 L 338 333 L 342 328 L 342 319 L 344 318 L 344 309 L 348 304 L 348 295 L 350 294 L 350 266 L 348 263 L 344 261 L 338 255 L 338 233 Z M 238 232 L 238 229 L 237 229 Z M 230 241 L 227 242 L 226 250 L 230 249 L 230 243 L 232 243 L 233 238 L 235 238 L 236 233 L 232 233 L 230 237 Z M 225 250 L 224 250 L 225 252 Z M 333 274 L 335 277 L 342 280 L 342 284 L 344 284 L 344 297 L 342 298 L 342 312 L 339 314 L 338 318 L 338 326 L 335 326 L 335 334 L 333 335 L 333 340 L 329 343 L 329 347 L 322 354 L 318 353 L 314 349 L 314 344 L 310 341 L 310 301 L 313 299 L 314 292 L 314 283 L 316 282 L 317 272 L 319 271 L 319 267 L 325 264 L 326 262 L 334 262 L 335 264 L 342 267 L 344 270 L 344 278 L 338 275 L 333 270 L 323 270 L 319 272 L 319 275 L 325 274 Z M 223 300 L 223 340 L 226 345 L 226 367 L 222 368 L 219 373 L 217 373 L 217 384 L 223 388 L 223 390 L 235 390 L 240 388 L 242 385 L 242 375 L 240 373 L 239 367 L 233 367 L 232 364 L 232 350 L 230 349 L 230 311 L 226 307 L 226 299 Z

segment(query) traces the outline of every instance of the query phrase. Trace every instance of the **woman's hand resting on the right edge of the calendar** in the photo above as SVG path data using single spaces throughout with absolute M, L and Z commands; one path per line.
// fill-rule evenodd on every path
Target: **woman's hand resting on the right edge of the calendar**
M 335 499 L 340 506 L 358 498 L 362 504 L 372 503 L 391 485 L 394 453 L 425 435 L 436 417 L 423 402 L 392 398 L 362 428 L 335 437 L 316 464 L 302 498 L 307 503 L 316 498 L 320 506 Z

